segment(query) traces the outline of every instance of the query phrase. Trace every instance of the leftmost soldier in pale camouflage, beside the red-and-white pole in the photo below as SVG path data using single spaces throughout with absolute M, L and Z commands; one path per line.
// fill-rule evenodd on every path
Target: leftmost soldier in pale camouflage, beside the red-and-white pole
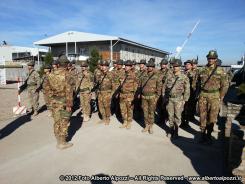
M 33 115 L 38 115 L 39 107 L 39 91 L 37 90 L 41 85 L 41 79 L 37 71 L 34 70 L 34 61 L 30 61 L 28 64 L 28 80 L 27 80 L 27 92 L 30 104 L 30 111 L 34 110 Z

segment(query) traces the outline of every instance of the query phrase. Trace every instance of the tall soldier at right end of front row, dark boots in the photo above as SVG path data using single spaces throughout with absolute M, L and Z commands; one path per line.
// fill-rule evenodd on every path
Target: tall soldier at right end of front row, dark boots
M 221 67 L 217 66 L 217 59 L 217 52 L 210 50 L 207 55 L 208 64 L 199 71 L 198 75 L 198 82 L 201 86 L 201 93 L 198 100 L 202 134 L 200 143 L 212 143 L 211 133 L 214 124 L 217 122 L 220 103 L 223 101 L 228 89 L 226 73 Z M 212 71 L 215 72 L 208 80 Z

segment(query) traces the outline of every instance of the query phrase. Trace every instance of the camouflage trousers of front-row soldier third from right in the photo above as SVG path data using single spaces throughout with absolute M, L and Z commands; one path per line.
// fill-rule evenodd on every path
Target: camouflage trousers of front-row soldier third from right
M 145 125 L 153 125 L 155 118 L 157 98 L 153 96 L 142 95 L 142 109 L 144 112 Z

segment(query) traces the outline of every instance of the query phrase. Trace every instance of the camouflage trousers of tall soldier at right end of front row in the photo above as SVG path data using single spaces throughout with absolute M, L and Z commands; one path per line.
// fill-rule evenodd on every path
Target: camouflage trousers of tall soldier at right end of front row
M 207 124 L 216 123 L 220 108 L 219 95 L 213 93 L 205 93 L 200 95 L 198 100 L 198 108 L 200 112 L 200 128 L 205 130 Z

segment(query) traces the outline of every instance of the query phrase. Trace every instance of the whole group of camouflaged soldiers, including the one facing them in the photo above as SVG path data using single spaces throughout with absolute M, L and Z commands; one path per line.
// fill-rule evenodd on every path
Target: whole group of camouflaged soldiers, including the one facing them
M 57 148 L 72 146 L 67 142 L 69 120 L 73 112 L 74 99 L 80 96 L 80 110 L 83 121 L 90 120 L 91 99 L 97 99 L 101 121 L 110 124 L 112 112 L 119 112 L 122 119 L 120 128 L 130 129 L 134 114 L 144 117 L 142 132 L 153 133 L 155 115 L 169 122 L 171 139 L 178 138 L 178 128 L 189 127 L 195 121 L 196 104 L 200 113 L 200 143 L 212 143 L 211 133 L 217 122 L 219 105 L 227 88 L 228 78 L 218 66 L 218 54 L 211 50 L 207 55 L 208 63 L 197 68 L 197 59 L 182 62 L 180 59 L 162 59 L 160 69 L 155 60 L 136 62 L 127 60 L 98 61 L 92 73 L 89 63 L 81 61 L 81 70 L 75 68 L 65 55 L 44 66 L 44 76 L 39 78 L 34 63 L 28 64 L 27 80 L 30 103 L 34 115 L 38 114 L 38 88 L 42 86 L 47 109 L 54 119 L 54 134 Z M 136 112 L 136 113 L 135 113 Z

